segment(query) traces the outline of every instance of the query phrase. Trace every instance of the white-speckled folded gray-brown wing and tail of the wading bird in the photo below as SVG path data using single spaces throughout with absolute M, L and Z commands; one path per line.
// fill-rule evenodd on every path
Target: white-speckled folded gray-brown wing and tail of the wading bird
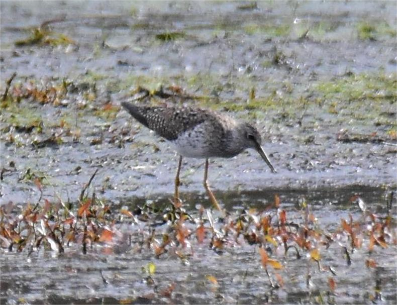
M 144 107 L 125 102 L 121 105 L 138 122 L 170 141 L 177 139 L 179 133 L 214 116 L 209 111 L 189 107 Z

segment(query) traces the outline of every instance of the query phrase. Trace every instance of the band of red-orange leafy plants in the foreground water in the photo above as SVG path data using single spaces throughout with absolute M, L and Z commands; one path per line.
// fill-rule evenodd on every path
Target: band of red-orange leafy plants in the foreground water
M 50 200 L 40 196 L 35 205 L 20 206 L 10 202 L 0 207 L 2 248 L 28 257 L 43 251 L 62 256 L 100 249 L 110 255 L 121 247 L 126 253 L 151 253 L 155 260 L 142 268 L 146 273 L 144 282 L 149 288 L 153 287 L 153 294 L 136 294 L 129 302 L 137 297 L 172 299 L 180 283 L 175 278 L 165 288 L 156 289 L 158 285 L 164 286 L 161 278 L 155 276 L 156 260 L 174 257 L 186 264 L 203 247 L 211 249 L 215 256 L 235 248 L 255 252 L 256 258 L 252 259 L 262 266 L 268 284 L 268 288 L 263 287 L 263 293 L 269 293 L 270 299 L 278 299 L 278 289 L 294 287 L 291 275 L 297 272 L 293 266 L 299 264 L 306 266 L 305 271 L 301 271 L 303 274 L 295 275 L 301 278 L 300 285 L 306 287 L 303 289 L 305 298 L 336 303 L 338 291 L 344 289 L 342 282 L 347 280 L 345 273 L 338 271 L 343 265 L 340 261 L 345 261 L 346 270 L 352 264 L 373 270 L 371 282 L 366 286 L 367 294 L 362 297 L 367 301 L 382 298 L 384 283 L 378 272 L 383 262 L 376 259 L 376 253 L 397 246 L 395 220 L 390 214 L 392 192 L 383 212 L 376 214 L 360 197 L 353 196 L 350 201 L 357 204 L 361 215 L 349 215 L 348 219 L 340 219 L 339 224 L 325 228 L 305 199 L 299 202 L 298 210 L 286 211 L 278 195 L 262 209 L 236 212 L 213 212 L 202 206 L 186 211 L 180 205 L 175 206 L 172 200 L 162 207 L 148 202 L 136 207 L 111 207 L 95 192 L 88 193 L 96 173 L 84 185 L 76 203 L 65 202 L 60 197 Z M 34 183 L 42 193 L 40 179 L 35 178 Z M 353 256 L 353 253 L 357 251 L 362 252 L 360 256 L 366 257 L 365 260 L 355 261 L 357 254 Z M 114 280 L 104 276 L 102 271 L 101 276 L 105 285 Z M 219 289 L 214 274 L 207 275 L 206 280 L 214 286 L 209 289 Z M 320 288 L 313 289 L 313 285 Z

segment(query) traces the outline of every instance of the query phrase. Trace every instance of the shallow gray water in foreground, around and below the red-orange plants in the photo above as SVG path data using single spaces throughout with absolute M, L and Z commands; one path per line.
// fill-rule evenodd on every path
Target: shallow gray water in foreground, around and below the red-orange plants
M 265 192 L 242 192 L 237 195 L 231 193 L 217 193 L 226 202 L 230 213 L 244 208 L 256 208 L 261 211 L 266 198 L 274 195 L 276 190 Z M 287 211 L 288 219 L 299 223 L 303 212 L 295 208 L 297 203 L 306 198 L 310 211 L 318 217 L 317 226 L 327 232 L 337 232 L 341 219 L 348 219 L 349 215 L 357 220 L 360 218 L 359 208 L 349 201 L 350 197 L 358 194 L 372 211 L 378 215 L 385 212 L 383 192 L 380 189 L 349 187 L 345 189 L 323 191 L 292 191 L 277 190 L 281 195 L 281 208 Z M 155 202 L 159 207 L 168 198 L 160 198 Z M 242 199 L 240 199 L 242 198 Z M 124 205 L 142 204 L 143 198 L 126 200 Z M 194 210 L 197 204 L 205 204 L 204 198 L 197 194 L 190 194 L 184 202 Z M 368 205 L 369 206 L 369 205 Z M 189 209 L 190 209 L 189 208 Z M 217 215 L 216 213 L 214 216 Z M 125 233 L 137 232 L 146 228 L 145 223 L 138 226 L 124 226 Z M 163 226 L 157 226 L 157 234 L 162 232 Z M 295 304 L 313 303 L 322 294 L 326 298 L 328 278 L 333 275 L 329 271 L 318 271 L 317 264 L 307 257 L 296 259 L 293 252 L 287 256 L 283 251 L 272 253 L 282 262 L 285 269 L 279 273 L 285 281 L 285 286 L 278 289 L 269 287 L 265 271 L 259 268 L 260 257 L 257 247 L 245 243 L 233 247 L 225 246 L 222 252 L 216 253 L 208 245 L 192 242 L 185 249 L 179 249 L 185 258 L 180 259 L 172 248 L 160 258 L 155 258 L 152 250 L 139 250 L 137 244 L 128 242 L 117 243 L 114 246 L 96 244 L 89 248 L 86 255 L 81 254 L 80 246 L 72 244 L 65 248 L 65 253 L 58 255 L 47 249 L 22 253 L 2 250 L 0 266 L 2 280 L 0 280 L 0 301 L 14 303 L 22 300 L 29 303 L 76 302 L 82 300 L 92 304 L 118 303 L 262 303 L 268 299 L 273 302 Z M 372 254 L 362 249 L 350 254 L 352 264 L 347 265 L 344 258 L 343 239 L 331 243 L 322 250 L 322 266 L 331 266 L 336 272 L 336 294 L 333 297 L 337 303 L 366 303 L 368 294 L 373 293 L 375 281 L 381 279 L 381 293 L 383 302 L 393 303 L 397 297 L 395 245 L 386 249 L 376 248 Z M 348 244 L 348 243 L 346 243 Z M 180 255 L 180 254 L 179 254 Z M 376 269 L 366 268 L 364 261 L 373 259 L 377 262 Z M 147 274 L 142 271 L 148 263 L 156 265 L 156 272 L 152 275 L 154 284 L 148 284 Z M 375 275 L 375 270 L 378 272 Z M 107 283 L 103 282 L 101 272 Z M 273 271 L 274 272 L 274 271 Z M 306 275 L 310 272 L 313 285 L 307 286 Z M 274 276 L 274 273 L 272 273 Z M 216 285 L 207 280 L 208 276 L 217 279 Z M 8 280 L 6 280 L 8 279 Z M 166 289 L 173 283 L 175 288 L 172 297 L 161 297 L 158 291 Z

